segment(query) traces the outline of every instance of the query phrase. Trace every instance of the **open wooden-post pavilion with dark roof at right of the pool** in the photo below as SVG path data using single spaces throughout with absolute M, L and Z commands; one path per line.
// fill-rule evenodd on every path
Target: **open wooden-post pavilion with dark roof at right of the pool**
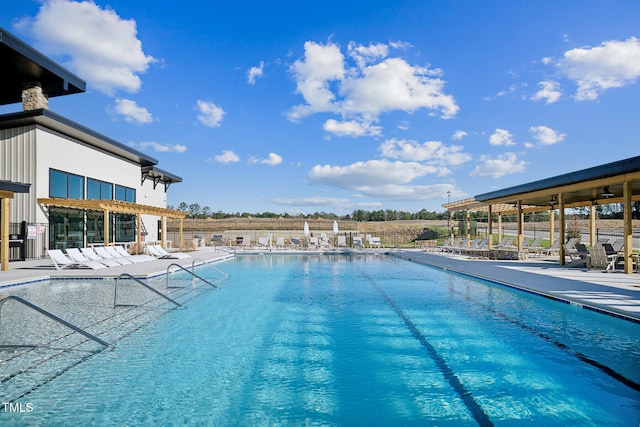
M 551 211 L 550 236 L 554 240 L 554 215 L 559 211 L 560 238 L 565 235 L 565 209 L 588 206 L 590 208 L 590 244 L 594 245 L 595 209 L 597 205 L 622 203 L 624 218 L 624 269 L 625 273 L 633 272 L 633 227 L 631 221 L 631 204 L 640 201 L 640 156 L 608 163 L 564 175 L 558 175 L 515 187 L 505 188 L 490 193 L 442 205 L 449 212 L 459 210 L 486 211 L 489 215 L 488 234 L 492 235 L 492 214 L 516 214 L 518 218 L 518 251 L 522 251 L 524 240 L 525 212 Z M 468 215 L 468 214 L 467 214 Z M 489 245 L 492 244 L 489 239 Z M 491 246 L 489 246 L 491 247 Z M 560 249 L 560 264 L 565 263 L 565 250 Z

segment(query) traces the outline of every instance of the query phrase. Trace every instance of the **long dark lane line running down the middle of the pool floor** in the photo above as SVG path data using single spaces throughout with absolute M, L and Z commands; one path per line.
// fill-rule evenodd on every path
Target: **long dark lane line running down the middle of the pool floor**
M 453 369 L 447 364 L 447 361 L 442 357 L 436 348 L 431 345 L 431 343 L 427 340 L 427 338 L 418 330 L 418 327 L 407 317 L 407 315 L 402 311 L 395 301 L 389 297 L 379 286 L 378 284 L 367 274 L 362 272 L 362 275 L 369 281 L 371 286 L 378 291 L 378 293 L 387 301 L 387 303 L 391 306 L 393 311 L 402 319 L 404 324 L 409 329 L 409 332 L 413 335 L 413 337 L 418 340 L 418 342 L 422 345 L 422 347 L 427 351 L 431 359 L 435 362 L 436 366 L 447 380 L 449 385 L 455 390 L 455 392 L 460 396 L 462 401 L 464 402 L 471 415 L 476 420 L 476 422 L 481 427 L 493 427 L 493 422 L 489 419 L 489 416 L 484 412 L 482 407 L 471 395 L 471 392 L 467 390 L 467 388 L 460 382 L 460 379 L 455 374 Z

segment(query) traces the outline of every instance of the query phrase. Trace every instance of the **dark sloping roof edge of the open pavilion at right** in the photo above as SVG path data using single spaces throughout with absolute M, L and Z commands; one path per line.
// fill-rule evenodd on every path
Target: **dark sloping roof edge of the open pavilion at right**
M 475 199 L 480 202 L 486 202 L 488 200 L 517 196 L 523 193 L 591 181 L 638 170 L 640 170 L 640 156 L 480 194 L 475 196 Z

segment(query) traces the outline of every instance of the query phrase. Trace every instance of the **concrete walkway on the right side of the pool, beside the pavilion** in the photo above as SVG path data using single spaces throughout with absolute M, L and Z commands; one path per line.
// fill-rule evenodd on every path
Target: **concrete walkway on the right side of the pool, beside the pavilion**
M 640 322 L 640 274 L 561 266 L 556 258 L 496 261 L 441 252 L 403 250 L 394 255 L 523 289 Z

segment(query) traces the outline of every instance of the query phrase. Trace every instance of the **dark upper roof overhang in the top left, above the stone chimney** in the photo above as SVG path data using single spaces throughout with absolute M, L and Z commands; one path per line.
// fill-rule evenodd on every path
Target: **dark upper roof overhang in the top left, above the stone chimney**
M 75 74 L 0 27 L 0 105 L 22 102 L 23 85 L 39 82 L 48 97 L 81 93 L 86 83 Z

